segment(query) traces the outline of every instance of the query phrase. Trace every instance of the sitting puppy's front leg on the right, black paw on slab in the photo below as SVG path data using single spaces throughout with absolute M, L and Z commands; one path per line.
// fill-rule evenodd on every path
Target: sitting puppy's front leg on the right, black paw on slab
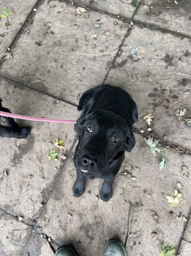
M 113 181 L 115 176 L 112 178 L 104 178 L 104 183 L 100 190 L 100 197 L 103 201 L 108 201 L 113 195 Z

